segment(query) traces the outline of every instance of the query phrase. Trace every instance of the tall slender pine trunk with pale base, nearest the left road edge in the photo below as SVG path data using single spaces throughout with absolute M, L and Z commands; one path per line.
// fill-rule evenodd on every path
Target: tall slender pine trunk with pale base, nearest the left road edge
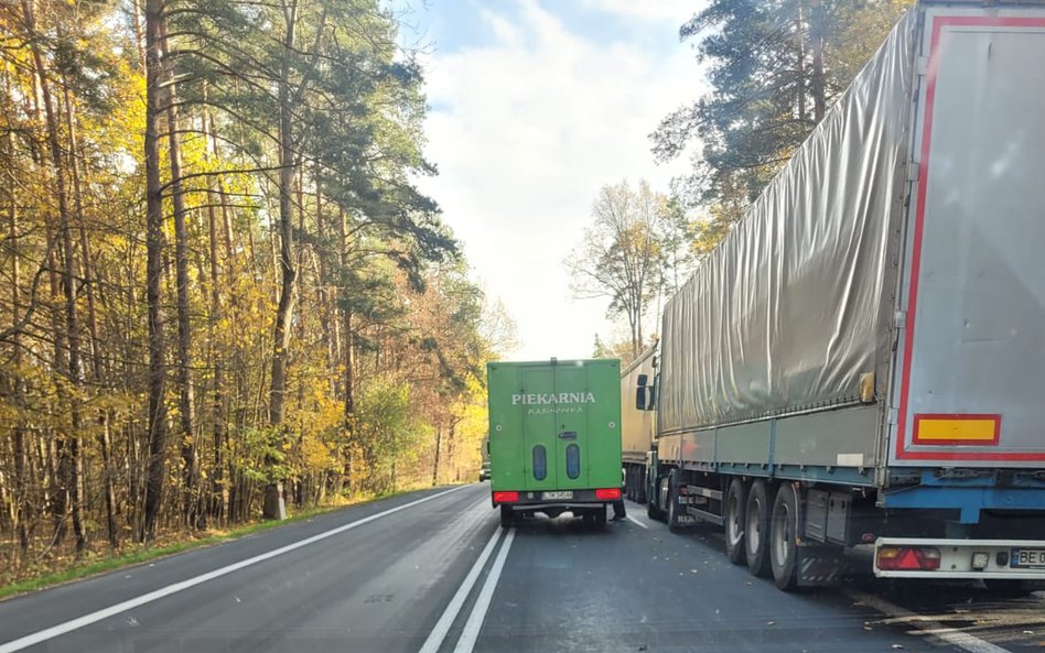
M 279 78 L 279 268 L 280 292 L 276 309 L 273 329 L 272 376 L 269 393 L 269 425 L 282 432 L 286 414 L 287 363 L 290 349 L 291 325 L 294 314 L 294 266 L 293 242 L 293 184 L 294 184 L 294 139 L 293 116 L 290 105 L 290 65 L 289 57 L 294 48 L 294 33 L 298 25 L 298 4 L 292 0 L 283 4 L 286 32 L 283 36 L 283 63 Z M 277 437 L 277 443 L 283 439 Z M 265 489 L 263 516 L 282 519 L 282 487 L 274 479 Z

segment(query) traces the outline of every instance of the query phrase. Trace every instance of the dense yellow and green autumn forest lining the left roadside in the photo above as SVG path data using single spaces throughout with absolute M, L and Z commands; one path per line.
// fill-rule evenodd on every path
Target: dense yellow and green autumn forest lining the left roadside
M 305 505 L 470 478 L 514 340 L 414 186 L 395 15 L 128 4 L 0 3 L 0 583 L 256 519 L 273 481 Z

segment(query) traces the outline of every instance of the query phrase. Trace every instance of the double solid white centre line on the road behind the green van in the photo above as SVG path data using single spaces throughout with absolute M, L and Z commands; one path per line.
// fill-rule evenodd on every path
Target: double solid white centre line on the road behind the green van
M 443 610 L 439 621 L 435 622 L 435 627 L 432 629 L 432 632 L 429 633 L 428 639 L 424 640 L 424 644 L 421 646 L 419 653 L 438 653 L 439 649 L 443 645 L 443 641 L 446 639 L 450 628 L 453 625 L 453 622 L 457 620 L 461 608 L 464 607 L 464 601 L 467 600 L 468 595 L 472 594 L 475 581 L 478 580 L 480 574 L 483 573 L 486 561 L 489 559 L 489 556 L 493 555 L 494 549 L 497 547 L 500 533 L 500 529 L 494 531 L 489 542 L 487 542 L 483 548 L 483 553 L 480 554 L 475 564 L 472 565 L 472 569 L 468 570 L 467 576 L 465 576 L 461 583 L 461 587 L 457 588 L 456 594 L 454 594 L 450 602 L 446 603 L 446 609 Z M 486 619 L 489 602 L 494 598 L 494 590 L 497 588 L 497 581 L 500 579 L 500 573 L 504 570 L 505 559 L 508 557 L 508 549 L 511 548 L 511 542 L 514 540 L 515 530 L 513 529 L 508 531 L 505 543 L 502 545 L 500 551 L 497 552 L 494 565 L 489 568 L 486 581 L 483 583 L 483 588 L 480 590 L 478 597 L 475 599 L 475 605 L 472 607 L 472 613 L 468 614 L 468 620 L 464 623 L 461 636 L 457 638 L 457 644 L 453 649 L 454 653 L 472 653 L 472 650 L 475 647 L 475 641 L 478 639 L 480 630 L 483 628 L 483 621 Z

